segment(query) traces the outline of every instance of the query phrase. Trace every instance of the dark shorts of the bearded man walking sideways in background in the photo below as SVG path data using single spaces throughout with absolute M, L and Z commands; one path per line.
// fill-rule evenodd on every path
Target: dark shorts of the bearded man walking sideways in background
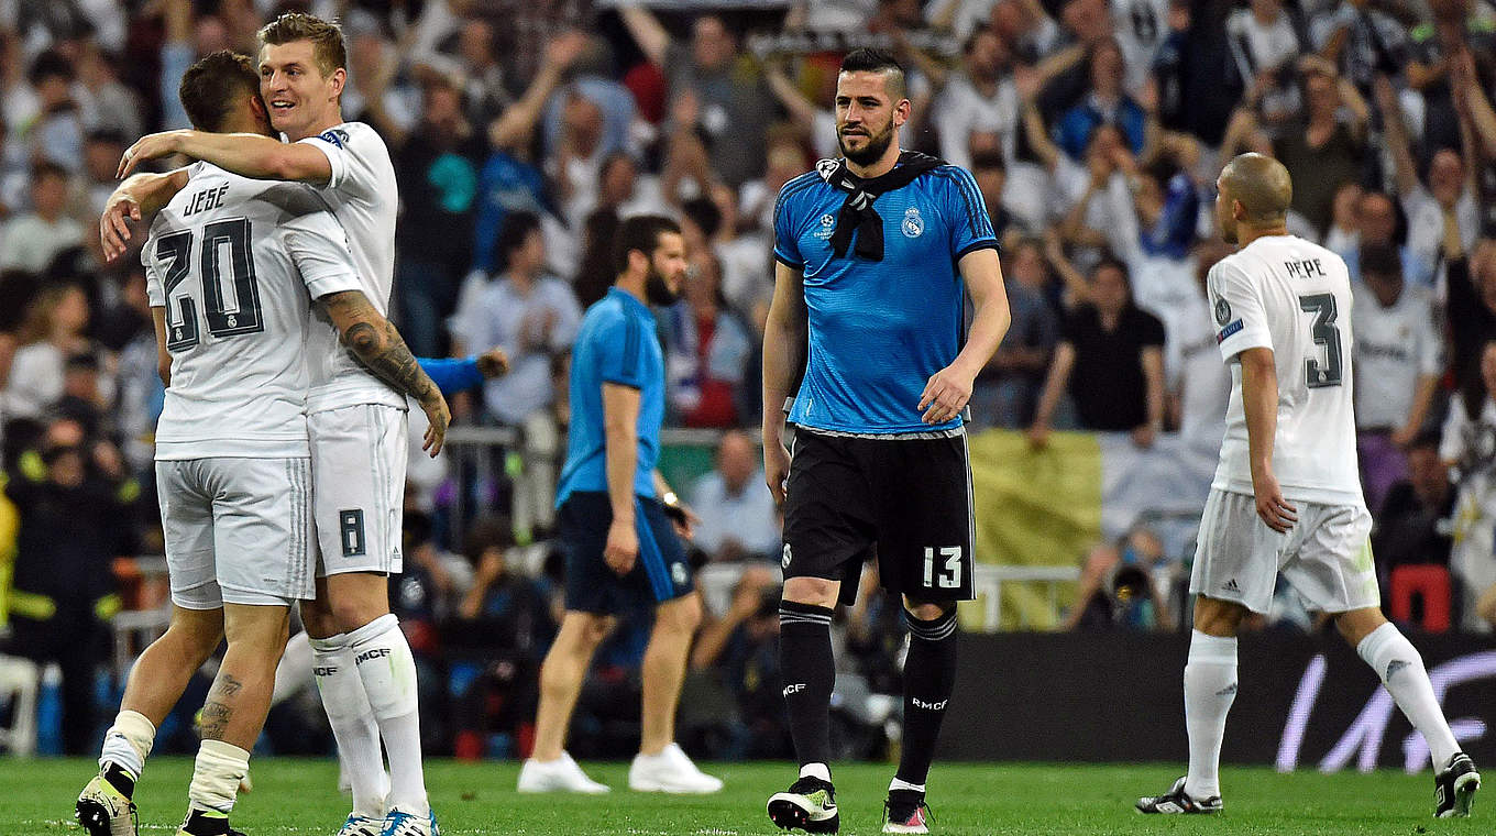
M 561 547 L 565 552 L 565 609 L 616 615 L 654 607 L 688 595 L 694 589 L 691 564 L 658 500 L 634 501 L 639 558 L 619 576 L 607 568 L 603 549 L 613 505 L 607 494 L 579 491 L 561 504 Z

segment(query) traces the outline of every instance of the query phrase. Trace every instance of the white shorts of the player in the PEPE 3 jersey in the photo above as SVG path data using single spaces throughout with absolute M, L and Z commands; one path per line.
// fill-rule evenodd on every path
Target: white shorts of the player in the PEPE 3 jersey
M 1381 606 L 1372 562 L 1372 514 L 1360 505 L 1294 502 L 1299 522 L 1279 534 L 1246 494 L 1210 489 L 1200 519 L 1189 592 L 1266 613 L 1278 574 L 1316 610 Z

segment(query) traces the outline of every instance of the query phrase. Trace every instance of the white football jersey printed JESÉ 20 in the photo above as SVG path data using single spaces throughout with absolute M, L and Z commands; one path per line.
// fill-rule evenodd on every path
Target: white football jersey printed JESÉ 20
M 156 458 L 310 455 L 308 308 L 361 287 L 326 203 L 298 182 L 196 163 L 141 262 L 172 356 Z

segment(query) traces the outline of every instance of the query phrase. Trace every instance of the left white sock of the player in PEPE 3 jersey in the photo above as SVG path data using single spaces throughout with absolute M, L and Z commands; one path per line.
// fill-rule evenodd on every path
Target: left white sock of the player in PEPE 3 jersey
M 1189 773 L 1185 793 L 1192 799 L 1221 794 L 1221 739 L 1225 715 L 1236 701 L 1236 637 L 1189 636 L 1185 664 L 1185 730 L 1189 731 Z

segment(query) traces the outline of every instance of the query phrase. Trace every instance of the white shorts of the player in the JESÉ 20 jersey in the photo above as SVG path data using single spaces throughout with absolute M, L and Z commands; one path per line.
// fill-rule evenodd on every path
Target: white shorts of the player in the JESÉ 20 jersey
M 314 595 L 311 459 L 156 462 L 172 603 L 287 606 Z

